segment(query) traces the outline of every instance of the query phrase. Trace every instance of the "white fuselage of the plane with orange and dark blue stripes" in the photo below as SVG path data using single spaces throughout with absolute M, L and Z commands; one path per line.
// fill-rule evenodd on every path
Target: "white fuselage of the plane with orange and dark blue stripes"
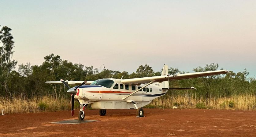
M 166 94 L 167 90 L 161 90 L 161 83 L 152 83 L 141 91 L 123 100 L 124 97 L 135 92 L 145 84 L 126 85 L 121 79 L 110 79 L 114 83 L 110 88 L 100 85 L 83 85 L 79 88 L 79 94 L 75 95 L 80 104 L 91 104 L 93 109 L 135 109 L 133 102 L 138 107 L 149 104 L 153 99 Z M 70 90 L 73 90 L 71 88 Z

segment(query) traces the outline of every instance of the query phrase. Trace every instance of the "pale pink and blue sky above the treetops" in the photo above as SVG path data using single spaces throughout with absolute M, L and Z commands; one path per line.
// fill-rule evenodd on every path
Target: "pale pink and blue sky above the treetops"
M 217 62 L 256 75 L 256 1 L 0 1 L 12 28 L 13 58 L 62 59 L 135 72 L 148 64 L 181 71 Z

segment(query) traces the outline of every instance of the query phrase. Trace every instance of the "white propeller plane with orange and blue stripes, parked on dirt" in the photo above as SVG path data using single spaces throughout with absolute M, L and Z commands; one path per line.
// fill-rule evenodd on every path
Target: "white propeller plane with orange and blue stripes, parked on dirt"
M 152 76 L 134 79 L 98 79 L 95 81 L 47 81 L 46 83 L 63 83 L 71 94 L 72 110 L 74 115 L 74 99 L 80 103 L 79 120 L 84 119 L 84 108 L 91 104 L 92 109 L 99 109 L 104 116 L 106 109 L 137 109 L 137 116 L 143 117 L 143 106 L 155 98 L 161 97 L 168 90 L 188 90 L 190 88 L 169 88 L 169 81 L 189 79 L 202 76 L 211 76 L 230 73 L 227 70 L 195 72 L 185 74 L 168 74 L 168 66 L 164 65 L 161 76 Z M 80 84 L 80 85 L 79 85 Z M 69 85 L 79 85 L 70 88 Z

